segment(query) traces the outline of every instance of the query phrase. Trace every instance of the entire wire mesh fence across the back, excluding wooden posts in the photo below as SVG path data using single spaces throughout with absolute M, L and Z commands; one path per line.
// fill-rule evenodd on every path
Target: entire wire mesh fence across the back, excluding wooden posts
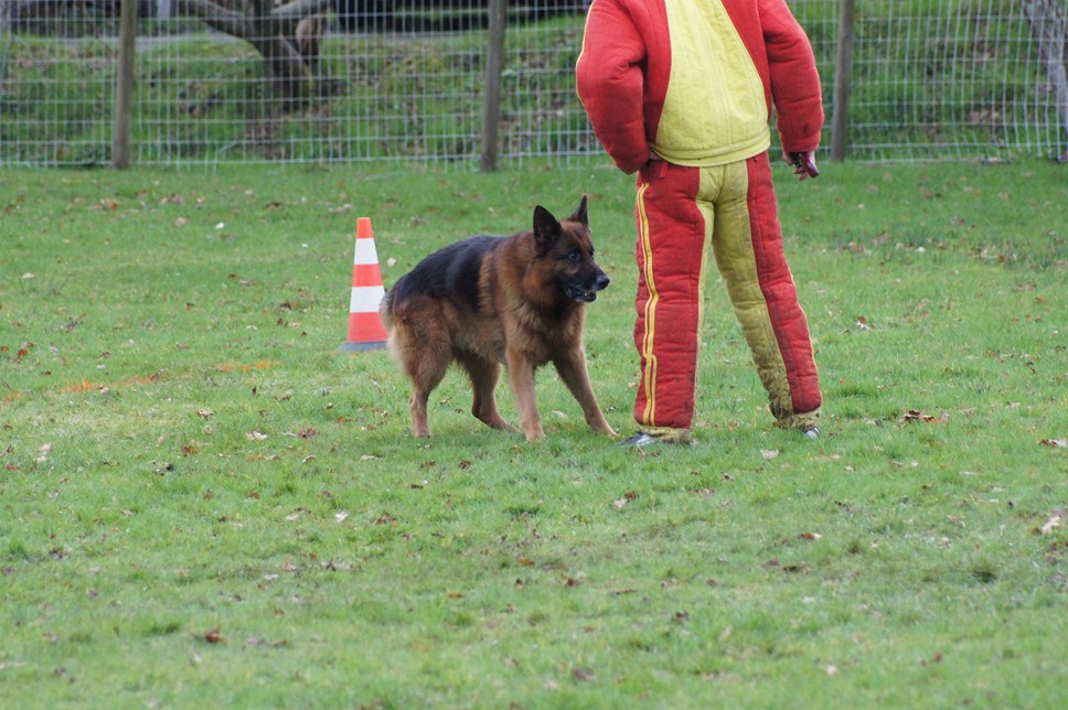
M 487 0 L 137 2 L 135 163 L 479 165 Z M 1068 152 L 1065 2 L 857 0 L 848 158 Z M 588 4 L 508 3 L 501 163 L 602 155 L 574 83 Z M 789 4 L 830 116 L 841 0 Z M 0 0 L 0 164 L 110 162 L 119 9 Z

